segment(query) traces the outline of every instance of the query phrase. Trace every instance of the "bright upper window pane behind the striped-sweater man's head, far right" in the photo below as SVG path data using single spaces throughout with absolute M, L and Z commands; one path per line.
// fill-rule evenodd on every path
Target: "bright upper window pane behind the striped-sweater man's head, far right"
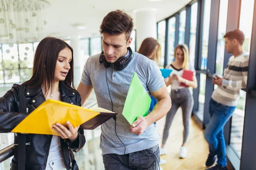
M 241 0 L 239 29 L 244 33 L 244 51 L 250 52 L 254 0 Z

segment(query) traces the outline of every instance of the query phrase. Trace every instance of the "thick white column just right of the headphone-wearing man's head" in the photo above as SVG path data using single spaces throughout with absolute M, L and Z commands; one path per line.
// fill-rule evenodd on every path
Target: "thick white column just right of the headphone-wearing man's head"
M 154 8 L 134 10 L 136 21 L 136 48 L 139 50 L 141 42 L 148 37 L 157 39 L 157 21 Z

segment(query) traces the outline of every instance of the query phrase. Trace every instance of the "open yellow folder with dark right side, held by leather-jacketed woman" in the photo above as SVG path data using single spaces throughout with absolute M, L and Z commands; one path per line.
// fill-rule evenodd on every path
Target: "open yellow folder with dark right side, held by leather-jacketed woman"
M 94 129 L 117 114 L 102 108 L 94 110 L 96 111 L 49 99 L 23 119 L 12 132 L 58 136 L 58 133 L 56 133 L 55 130 L 52 130 L 52 125 L 57 122 L 66 127 L 66 122 L 69 121 L 73 127 L 81 125 L 80 127 L 83 127 L 84 129 Z M 86 124 L 85 122 L 89 122 L 89 124 Z

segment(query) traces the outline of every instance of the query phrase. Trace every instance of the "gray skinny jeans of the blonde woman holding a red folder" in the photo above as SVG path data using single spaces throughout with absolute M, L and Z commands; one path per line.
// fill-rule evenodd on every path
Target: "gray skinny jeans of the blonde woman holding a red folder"
M 189 120 L 191 117 L 194 99 L 189 92 L 188 88 L 181 88 L 177 90 L 171 91 L 171 99 L 172 99 L 172 108 L 166 115 L 166 123 L 163 129 L 163 140 L 162 144 L 166 144 L 166 140 L 169 135 L 169 129 L 172 125 L 173 118 L 178 108 L 182 109 L 182 118 L 183 118 L 183 143 L 186 143 L 189 136 Z

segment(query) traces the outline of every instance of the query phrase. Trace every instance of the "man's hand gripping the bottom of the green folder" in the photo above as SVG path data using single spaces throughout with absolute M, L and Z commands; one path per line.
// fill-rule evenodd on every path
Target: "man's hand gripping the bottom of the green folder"
M 130 126 L 130 132 L 140 136 L 147 127 L 148 120 L 146 117 L 139 116 L 137 120 L 132 123 L 132 126 Z

